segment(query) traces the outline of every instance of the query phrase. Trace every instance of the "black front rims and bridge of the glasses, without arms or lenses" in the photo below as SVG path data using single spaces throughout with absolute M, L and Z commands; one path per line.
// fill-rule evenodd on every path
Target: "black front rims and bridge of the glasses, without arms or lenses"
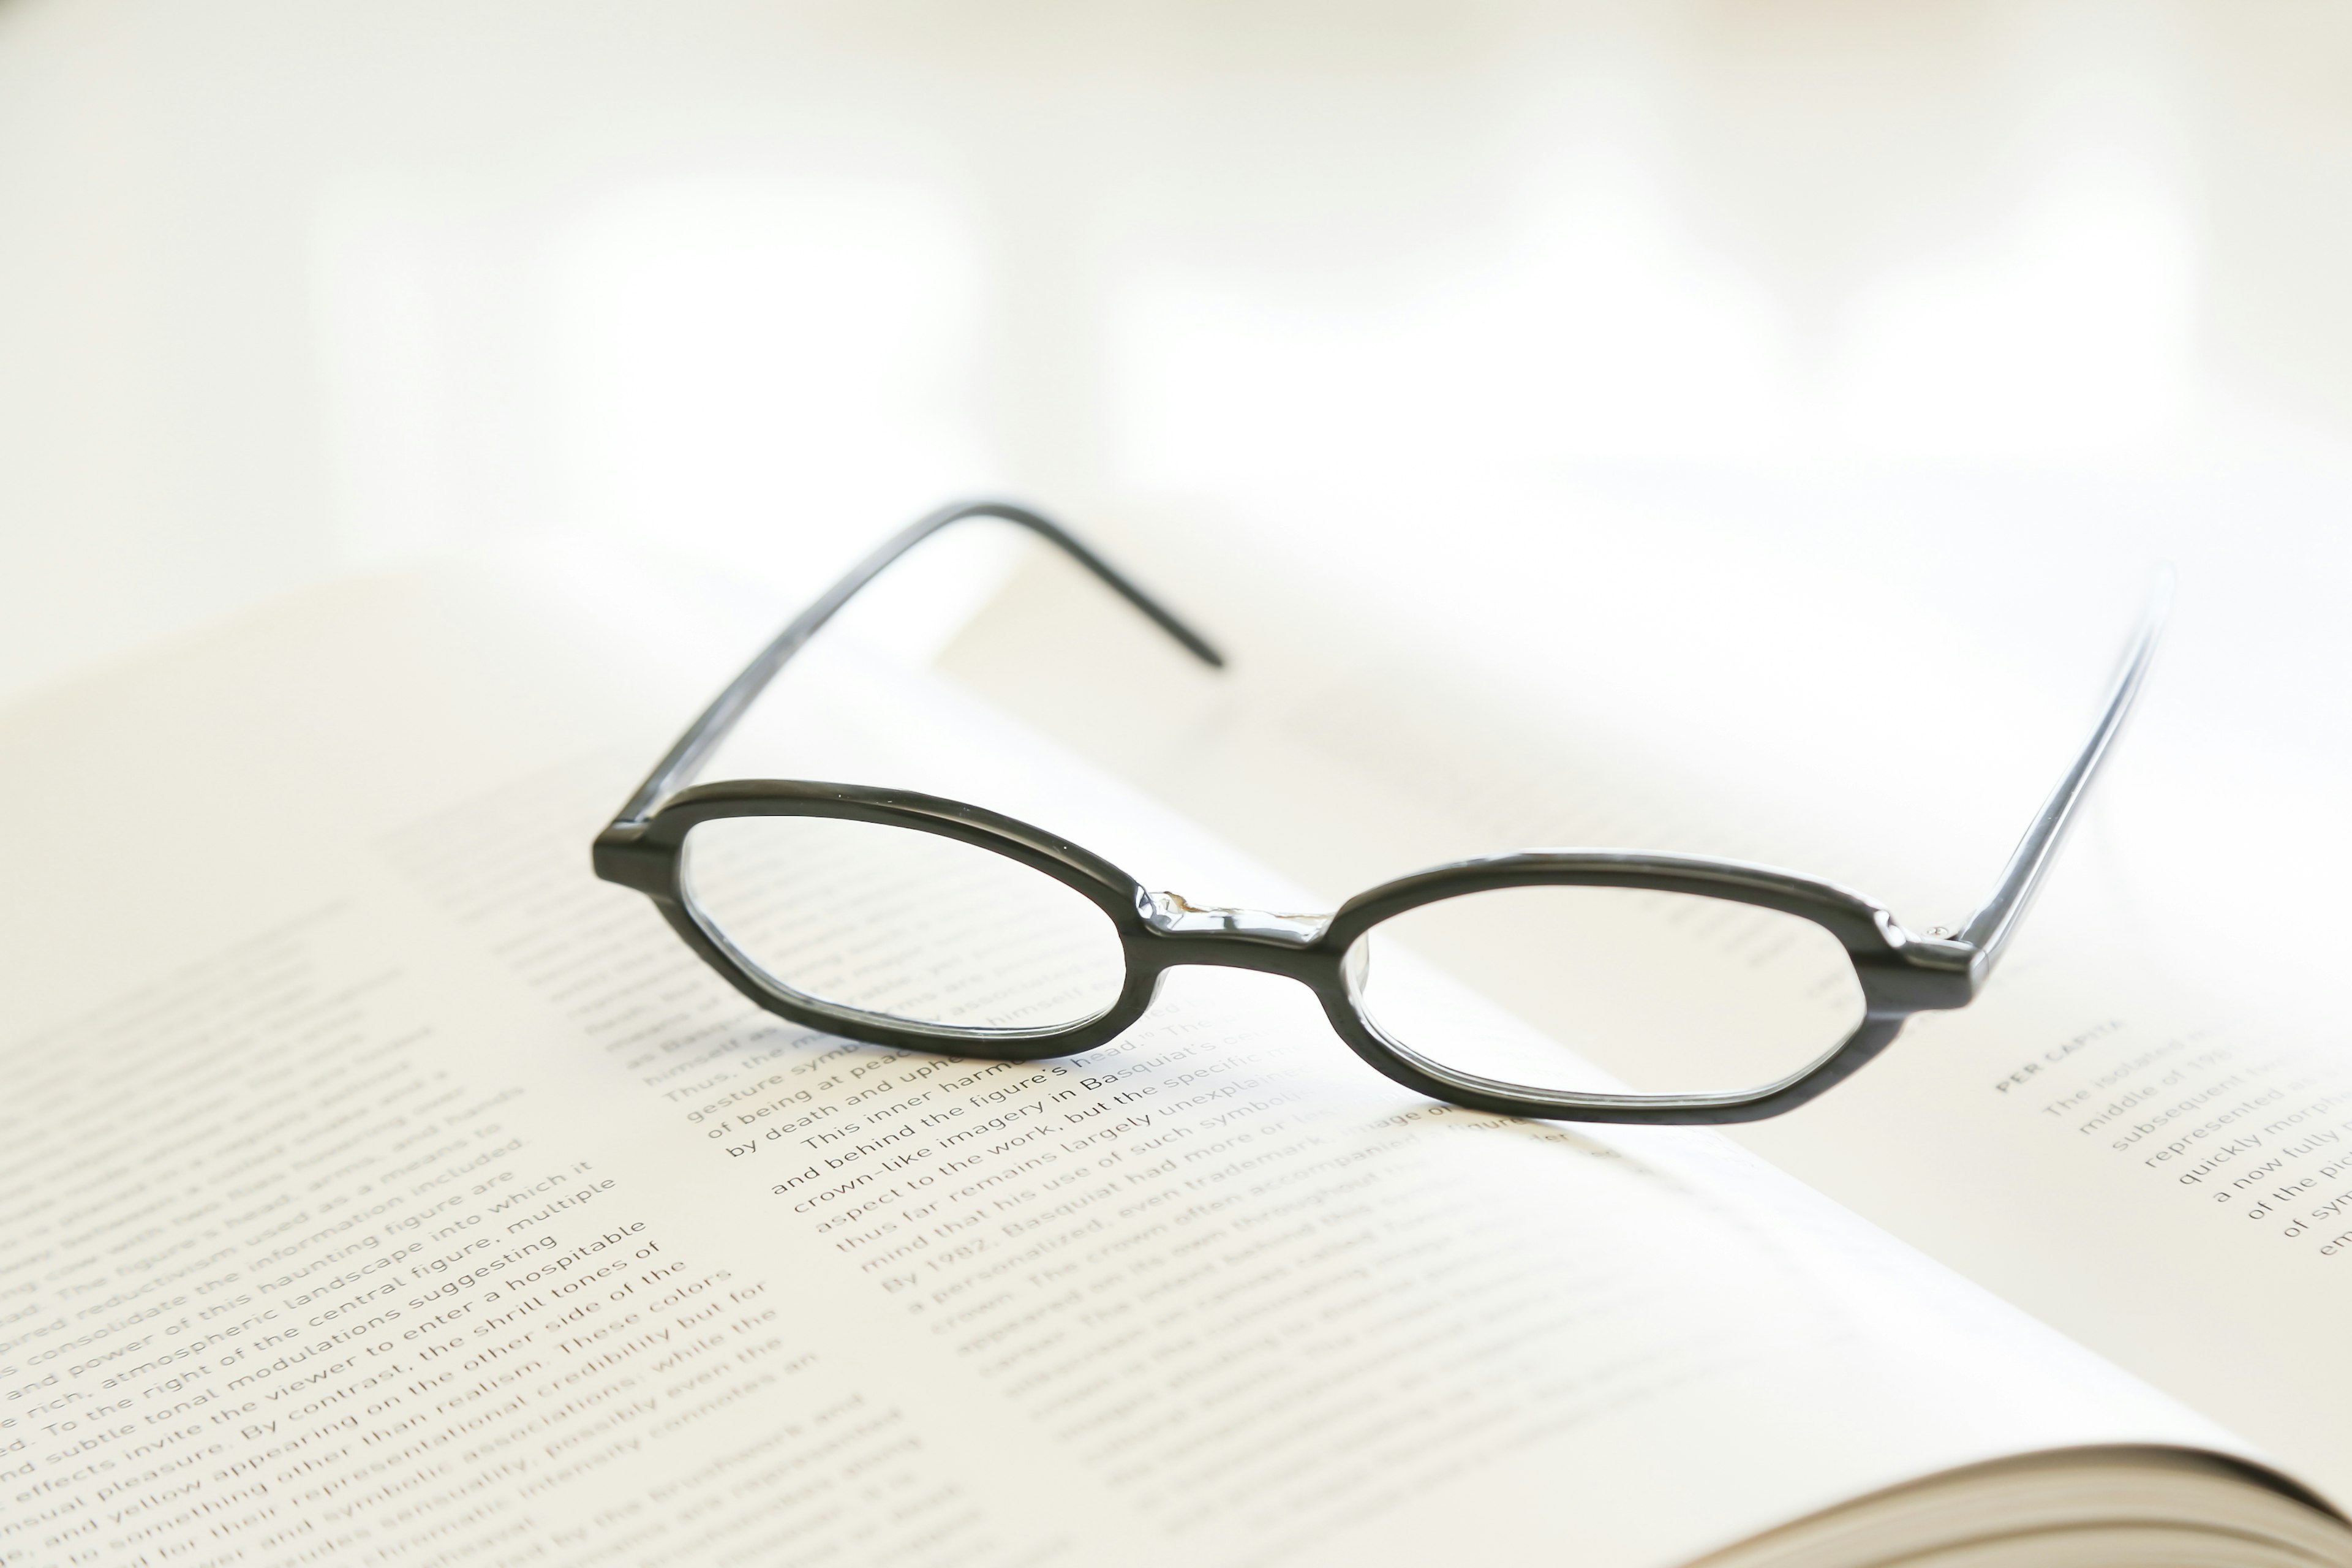
M 727 818 L 816 816 L 929 832 L 993 851 L 1073 889 L 1096 905 L 1120 938 L 1124 976 L 1101 1013 L 1051 1027 L 927 1025 L 823 1001 L 793 990 L 746 959 L 703 912 L 684 875 L 694 827 Z M 626 839 L 626 842 L 616 842 Z M 1621 849 L 1538 849 L 1477 856 L 1383 882 L 1343 903 L 1310 940 L 1268 940 L 1237 931 L 1167 931 L 1152 924 L 1155 896 L 1103 856 L 1018 818 L 969 802 L 870 785 L 739 778 L 677 792 L 626 835 L 597 842 L 597 875 L 656 903 L 689 947 L 760 1009 L 804 1027 L 882 1046 L 1044 1060 L 1080 1056 L 1124 1034 L 1152 1006 L 1171 969 L 1228 966 L 1298 980 L 1315 992 L 1334 1032 L 1388 1079 L 1437 1100 L 1505 1117 L 1573 1121 L 1724 1124 L 1776 1117 L 1832 1088 L 1884 1051 L 1903 1023 L 1929 1009 L 1964 1006 L 1966 969 L 1936 961 L 1870 898 L 1769 865 Z M 1621 886 L 1717 898 L 1809 919 L 1853 964 L 1863 1020 L 1832 1051 L 1778 1081 L 1705 1095 L 1604 1095 L 1538 1091 L 1461 1072 L 1392 1039 L 1362 1009 L 1345 978 L 1350 947 L 1409 910 L 1482 891 L 1522 886 Z M 1926 959 L 1926 961 L 1922 961 Z

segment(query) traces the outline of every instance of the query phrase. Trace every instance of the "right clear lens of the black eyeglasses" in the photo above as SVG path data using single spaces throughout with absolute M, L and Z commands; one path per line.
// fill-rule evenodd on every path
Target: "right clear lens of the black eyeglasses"
M 1508 1013 L 1465 1006 L 1432 969 Z M 1853 961 L 1813 922 L 1639 889 L 1498 889 L 1423 905 L 1355 943 L 1348 983 L 1364 1016 L 1414 1053 L 1548 1091 L 1762 1088 L 1863 1020 Z

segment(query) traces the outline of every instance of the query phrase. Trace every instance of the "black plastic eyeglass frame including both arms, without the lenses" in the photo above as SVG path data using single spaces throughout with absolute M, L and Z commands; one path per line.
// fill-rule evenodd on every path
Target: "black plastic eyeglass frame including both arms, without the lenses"
M 1223 665 L 1223 656 L 1207 639 L 1040 512 L 1007 501 L 941 508 L 858 562 L 710 703 L 597 835 L 593 846 L 597 877 L 652 898 L 670 929 L 762 1009 L 849 1039 L 997 1060 L 1075 1056 L 1134 1025 L 1150 1009 L 1169 969 L 1216 964 L 1298 980 L 1322 1001 L 1334 1032 L 1371 1067 L 1406 1088 L 1470 1110 L 1555 1121 L 1724 1124 L 1778 1117 L 1851 1077 L 1900 1034 L 1912 1013 L 1973 1001 L 2032 903 L 2084 790 L 2138 696 L 2171 597 L 2169 578 L 2159 578 L 2089 743 L 2027 827 L 1992 898 L 1957 936 L 1905 931 L 1870 898 L 1797 872 L 1623 849 L 1529 849 L 1437 865 L 1357 893 L 1327 917 L 1202 907 L 1176 893 L 1150 891 L 1101 856 L 985 806 L 908 790 L 814 780 L 691 785 L 696 769 L 743 710 L 851 595 L 917 543 L 967 517 L 995 517 L 1040 534 L 1160 623 L 1195 658 Z M 736 816 L 826 816 L 934 832 L 1044 872 L 1091 900 L 1117 929 L 1127 954 L 1120 997 L 1103 1013 L 1068 1027 L 978 1030 L 908 1023 L 790 990 L 736 952 L 724 933 L 703 919 L 684 879 L 687 835 L 701 823 Z M 1359 936 L 1439 898 L 1517 886 L 1649 889 L 1797 914 L 1825 929 L 1846 950 L 1863 990 L 1863 1020 L 1830 1053 L 1773 1084 L 1736 1093 L 1611 1095 L 1538 1091 L 1475 1077 L 1390 1039 L 1364 1016 L 1348 980 L 1348 952 Z

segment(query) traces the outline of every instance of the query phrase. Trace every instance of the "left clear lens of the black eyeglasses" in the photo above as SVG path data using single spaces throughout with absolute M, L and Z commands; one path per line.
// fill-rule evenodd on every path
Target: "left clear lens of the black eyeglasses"
M 687 898 L 769 980 L 967 1030 L 1056 1030 L 1120 997 L 1120 933 L 1075 889 L 936 832 L 731 816 L 687 835 Z

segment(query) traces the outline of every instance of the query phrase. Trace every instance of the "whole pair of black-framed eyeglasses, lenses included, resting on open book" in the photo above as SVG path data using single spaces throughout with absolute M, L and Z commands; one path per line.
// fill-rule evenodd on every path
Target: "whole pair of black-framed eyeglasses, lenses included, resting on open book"
M 597 877 L 652 898 L 755 1004 L 830 1034 L 967 1058 L 1075 1056 L 1136 1023 L 1169 969 L 1218 964 L 1298 980 L 1359 1058 L 1414 1091 L 1557 1121 L 1778 1117 L 1884 1051 L 1912 1013 L 1973 1001 L 2131 710 L 2171 599 L 2164 576 L 2089 743 L 1957 936 L 1905 931 L 1860 893 L 1797 872 L 1630 849 L 1458 860 L 1334 914 L 1228 910 L 1150 891 L 964 802 L 786 778 L 687 788 L 842 604 L 967 517 L 1051 541 L 1195 658 L 1225 663 L 1056 522 L 1002 501 L 941 508 L 858 562 L 710 703 L 595 837 Z M 1437 964 L 1498 947 L 1543 985 L 1550 1034 L 1442 980 Z

